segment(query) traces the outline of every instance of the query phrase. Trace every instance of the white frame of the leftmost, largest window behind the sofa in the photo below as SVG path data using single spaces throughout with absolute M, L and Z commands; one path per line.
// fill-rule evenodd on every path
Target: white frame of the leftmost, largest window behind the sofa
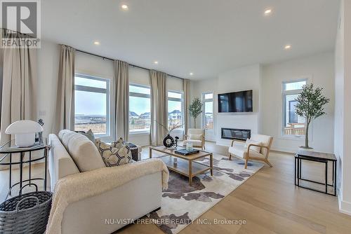
M 76 90 L 77 91 L 84 91 L 84 92 L 98 92 L 98 93 L 105 93 L 106 94 L 106 133 L 105 134 L 94 134 L 94 137 L 111 137 L 111 108 L 110 108 L 110 102 L 111 102 L 111 80 L 109 78 L 102 78 L 98 76 L 92 76 L 88 74 L 81 74 L 81 73 L 76 73 L 74 74 L 74 81 L 76 76 L 81 77 L 81 78 L 88 78 L 91 80 L 95 81 L 104 81 L 106 82 L 106 88 L 94 88 L 94 87 L 89 87 L 89 86 L 84 86 L 84 85 L 76 85 L 74 83 L 74 100 L 76 99 Z M 74 125 L 75 125 L 75 104 L 74 104 Z

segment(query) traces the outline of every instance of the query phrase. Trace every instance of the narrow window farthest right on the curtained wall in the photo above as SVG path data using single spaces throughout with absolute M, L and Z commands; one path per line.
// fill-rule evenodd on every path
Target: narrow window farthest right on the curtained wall
M 183 92 L 168 91 L 168 126 L 183 128 Z

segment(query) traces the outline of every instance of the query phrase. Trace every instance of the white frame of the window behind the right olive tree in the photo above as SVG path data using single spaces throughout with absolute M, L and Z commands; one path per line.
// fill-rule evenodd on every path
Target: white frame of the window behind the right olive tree
M 286 128 L 286 95 L 299 95 L 302 92 L 302 88 L 297 90 L 285 90 L 285 85 L 288 83 L 297 83 L 300 81 L 306 81 L 308 84 L 309 78 L 298 78 L 290 81 L 282 82 L 282 123 L 280 124 L 280 132 L 283 138 L 290 139 L 305 139 L 305 135 L 286 135 L 284 134 L 284 128 Z

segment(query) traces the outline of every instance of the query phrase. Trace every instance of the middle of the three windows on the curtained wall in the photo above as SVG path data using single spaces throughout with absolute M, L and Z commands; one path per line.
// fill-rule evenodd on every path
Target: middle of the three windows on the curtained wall
M 129 132 L 150 132 L 150 87 L 129 85 Z

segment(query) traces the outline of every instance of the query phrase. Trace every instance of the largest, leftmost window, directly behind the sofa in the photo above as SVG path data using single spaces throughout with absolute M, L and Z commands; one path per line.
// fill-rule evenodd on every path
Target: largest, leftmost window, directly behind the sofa
M 74 76 L 74 130 L 94 135 L 110 135 L 110 80 L 76 74 Z

